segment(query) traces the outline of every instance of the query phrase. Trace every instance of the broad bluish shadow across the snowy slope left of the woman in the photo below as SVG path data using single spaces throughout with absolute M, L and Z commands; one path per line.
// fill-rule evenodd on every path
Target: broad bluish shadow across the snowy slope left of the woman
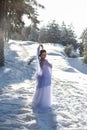
M 0 68 L 0 87 L 31 80 L 35 73 L 35 56 L 28 65 L 28 61 L 21 60 L 16 51 L 7 49 L 9 53 L 5 57 L 5 66 Z

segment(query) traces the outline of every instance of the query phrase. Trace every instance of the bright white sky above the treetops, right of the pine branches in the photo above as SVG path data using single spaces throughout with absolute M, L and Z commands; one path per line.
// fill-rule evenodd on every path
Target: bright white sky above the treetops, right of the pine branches
M 38 0 L 45 9 L 38 9 L 40 25 L 56 20 L 58 24 L 64 21 L 72 24 L 74 31 L 79 35 L 87 27 L 87 0 Z

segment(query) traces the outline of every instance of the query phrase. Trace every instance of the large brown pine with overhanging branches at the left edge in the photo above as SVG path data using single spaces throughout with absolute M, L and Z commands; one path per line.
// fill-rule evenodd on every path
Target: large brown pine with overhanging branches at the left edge
M 24 26 L 22 16 L 26 14 L 36 26 L 39 23 L 35 6 L 41 6 L 35 0 L 0 0 L 0 66 L 4 65 L 4 37 L 12 32 L 20 32 Z

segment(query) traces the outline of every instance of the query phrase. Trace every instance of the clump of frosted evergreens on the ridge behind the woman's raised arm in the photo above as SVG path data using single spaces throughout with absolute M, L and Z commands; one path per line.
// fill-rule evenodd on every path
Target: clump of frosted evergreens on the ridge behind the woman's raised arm
M 39 42 L 61 43 L 64 46 L 73 45 L 74 49 L 77 48 L 77 40 L 73 30 L 73 26 L 66 27 L 65 23 L 59 26 L 54 20 L 46 27 L 39 31 Z

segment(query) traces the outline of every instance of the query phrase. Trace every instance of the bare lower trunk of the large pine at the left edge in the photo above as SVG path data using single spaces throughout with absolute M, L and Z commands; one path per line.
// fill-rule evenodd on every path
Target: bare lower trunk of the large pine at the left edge
M 0 29 L 0 67 L 1 66 L 4 66 L 4 38 L 2 29 Z

